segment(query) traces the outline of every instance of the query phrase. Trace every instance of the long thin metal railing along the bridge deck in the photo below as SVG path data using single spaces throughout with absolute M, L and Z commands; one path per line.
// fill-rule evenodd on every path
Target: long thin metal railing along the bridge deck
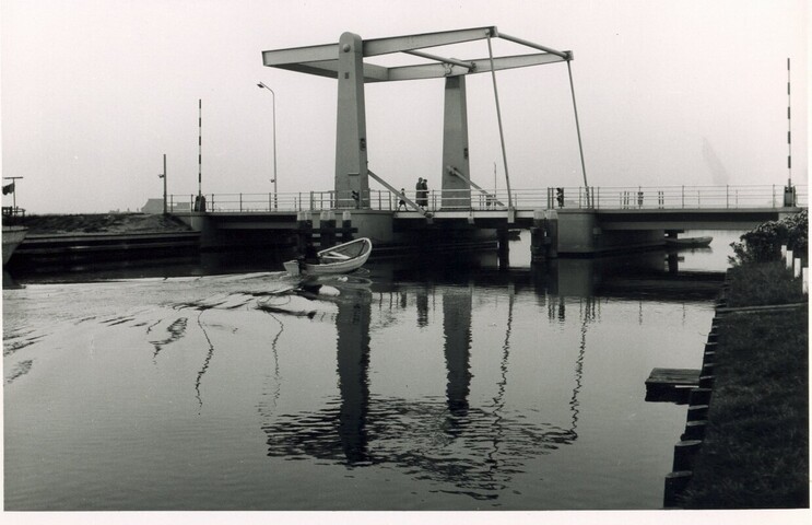
M 620 186 L 620 187 L 551 187 L 514 189 L 510 199 L 506 190 L 483 195 L 470 189 L 428 190 L 424 200 L 415 190 L 405 196 L 429 211 L 437 210 L 506 210 L 513 200 L 515 209 L 777 209 L 785 207 L 782 185 L 760 186 Z M 357 195 L 352 191 L 298 191 L 280 194 L 208 194 L 205 211 L 213 213 L 258 213 L 372 209 L 411 211 L 400 205 L 399 194 L 373 189 Z M 167 196 L 167 208 L 174 212 L 195 209 L 196 196 Z M 795 186 L 795 205 L 809 205 L 807 186 Z

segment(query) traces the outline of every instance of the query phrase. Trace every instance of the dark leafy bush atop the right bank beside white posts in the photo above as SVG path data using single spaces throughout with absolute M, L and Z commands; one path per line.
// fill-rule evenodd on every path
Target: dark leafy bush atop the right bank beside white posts
M 732 243 L 735 257 L 730 258 L 731 265 L 746 262 L 768 262 L 779 260 L 781 246 L 786 245 L 795 254 L 805 258 L 807 241 L 807 210 L 781 219 L 780 221 L 765 222 L 753 231 L 745 233 L 740 243 Z

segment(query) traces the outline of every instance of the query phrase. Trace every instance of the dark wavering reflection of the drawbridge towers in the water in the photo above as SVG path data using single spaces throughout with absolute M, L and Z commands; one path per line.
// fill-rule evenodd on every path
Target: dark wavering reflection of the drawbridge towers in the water
M 662 254 L 658 260 L 661 265 Z M 580 262 L 595 270 L 593 260 Z M 576 275 L 582 273 L 579 270 L 576 268 Z M 588 294 L 578 302 L 576 311 L 567 311 L 564 295 L 549 294 L 553 284 L 550 273 L 544 278 L 539 272 L 518 278 L 515 272 L 493 271 L 489 276 L 480 270 L 478 273 L 478 280 L 501 281 L 507 287 L 508 295 L 503 342 L 501 348 L 492 348 L 501 355 L 499 371 L 494 375 L 498 383 L 492 398 L 478 404 L 470 399 L 473 287 L 464 285 L 464 278 L 460 285 L 444 289 L 442 296 L 445 399 L 370 393 L 370 325 L 376 294 L 368 289 L 344 290 L 336 316 L 338 396 L 325 399 L 321 409 L 266 413 L 269 422 L 262 430 L 267 434 L 268 455 L 326 460 L 350 469 L 370 465 L 390 467 L 414 479 L 437 482 L 444 492 L 495 500 L 534 457 L 575 443 L 587 335 L 589 326 L 597 320 L 598 299 Z M 558 407 L 569 413 L 568 424 L 564 427 L 533 421 L 506 407 L 513 310 L 516 289 L 525 285 L 543 292 L 537 294 L 538 301 L 546 304 L 551 318 L 563 322 L 567 314 L 577 313 L 580 323 L 578 349 L 570 368 L 572 392 L 565 406 Z M 390 308 L 403 308 L 407 304 L 405 291 L 381 293 L 390 295 Z M 432 290 L 419 287 L 412 293 L 416 324 L 424 325 L 429 303 L 434 302 Z M 569 305 L 574 306 L 572 301 Z M 552 399 L 539 401 L 543 405 Z

